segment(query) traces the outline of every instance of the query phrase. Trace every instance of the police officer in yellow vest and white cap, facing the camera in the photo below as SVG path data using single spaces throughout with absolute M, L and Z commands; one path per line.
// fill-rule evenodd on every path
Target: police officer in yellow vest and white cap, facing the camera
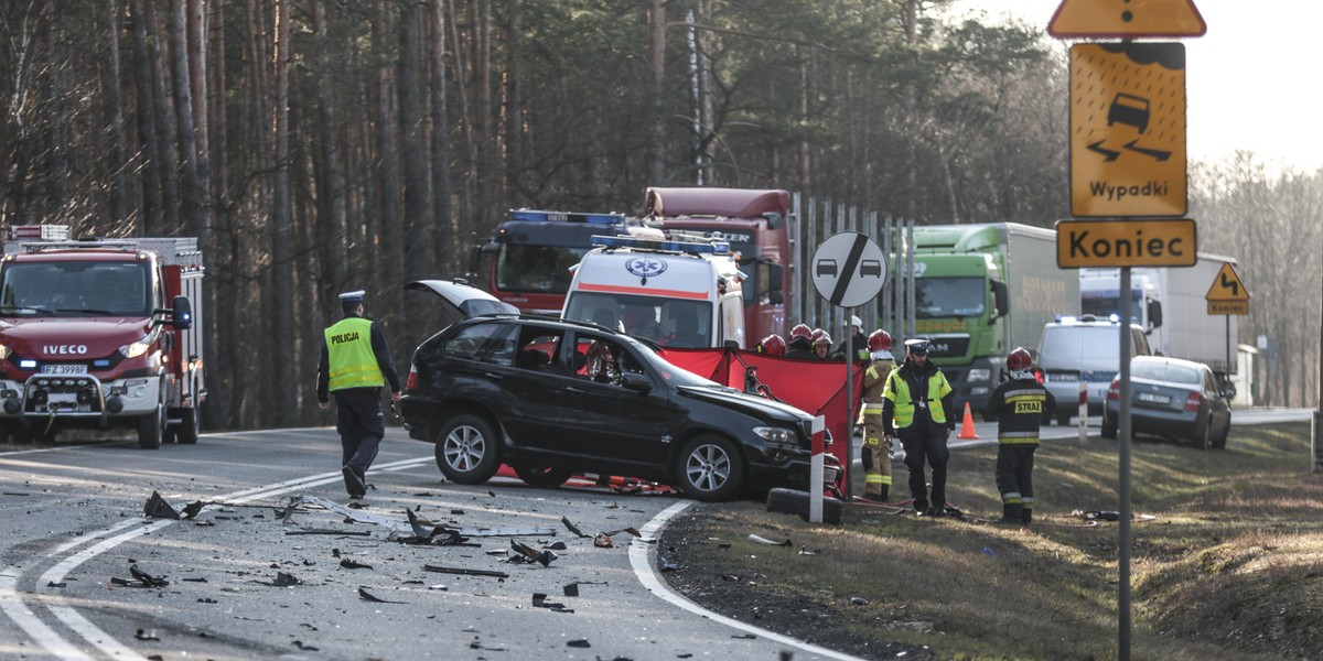
M 955 514 L 946 506 L 946 439 L 955 431 L 953 389 L 946 374 L 927 360 L 929 341 L 905 341 L 905 362 L 892 370 L 882 389 L 882 430 L 901 439 L 909 468 L 914 510 L 925 517 Z M 933 500 L 929 504 L 923 464 L 933 468 Z

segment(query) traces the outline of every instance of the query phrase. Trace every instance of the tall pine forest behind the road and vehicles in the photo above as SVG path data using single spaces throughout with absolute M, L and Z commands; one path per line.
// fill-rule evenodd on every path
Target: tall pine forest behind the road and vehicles
M 0 230 L 198 237 L 204 428 L 325 424 L 336 293 L 397 366 L 509 209 L 638 214 L 648 185 L 783 188 L 919 223 L 1069 213 L 1066 52 L 945 0 L 0 3 Z M 1192 163 L 1234 256 L 1258 403 L 1319 391 L 1320 172 Z M 409 296 L 413 296 L 410 293 Z

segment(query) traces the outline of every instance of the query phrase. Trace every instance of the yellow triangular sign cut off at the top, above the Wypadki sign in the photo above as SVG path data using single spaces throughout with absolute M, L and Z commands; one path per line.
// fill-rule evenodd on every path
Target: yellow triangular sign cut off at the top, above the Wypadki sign
M 1208 32 L 1193 0 L 1061 0 L 1048 34 L 1074 37 L 1200 37 Z

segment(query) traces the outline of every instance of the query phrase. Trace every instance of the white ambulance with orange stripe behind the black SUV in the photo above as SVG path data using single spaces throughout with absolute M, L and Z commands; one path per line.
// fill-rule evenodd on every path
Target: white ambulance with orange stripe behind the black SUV
M 744 293 L 736 255 L 721 241 L 593 237 L 574 267 L 561 316 L 660 346 L 744 349 Z

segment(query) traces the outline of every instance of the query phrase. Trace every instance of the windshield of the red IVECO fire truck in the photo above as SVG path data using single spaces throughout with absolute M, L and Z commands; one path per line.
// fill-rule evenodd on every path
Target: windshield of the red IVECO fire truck
M 0 316 L 147 317 L 146 262 L 13 262 L 0 272 Z

